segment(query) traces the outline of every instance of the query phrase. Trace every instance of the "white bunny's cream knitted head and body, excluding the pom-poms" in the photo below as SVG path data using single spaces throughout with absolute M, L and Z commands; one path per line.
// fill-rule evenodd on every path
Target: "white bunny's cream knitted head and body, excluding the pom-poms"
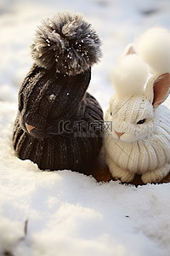
M 158 182 L 170 172 L 170 118 L 164 106 L 153 108 L 153 83 L 149 80 L 146 96 L 123 99 L 112 96 L 105 121 L 112 122 L 112 131 L 105 131 L 106 163 L 113 177 L 122 182 L 133 180 L 135 173 L 144 183 Z M 152 86 L 151 86 L 152 85 Z M 138 121 L 146 119 L 144 124 Z M 123 133 L 117 139 L 116 131 Z

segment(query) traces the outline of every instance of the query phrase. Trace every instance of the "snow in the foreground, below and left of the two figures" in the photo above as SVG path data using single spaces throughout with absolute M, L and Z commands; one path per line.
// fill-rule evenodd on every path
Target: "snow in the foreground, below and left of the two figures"
M 14 154 L 16 105 L 0 102 L 0 252 L 14 255 L 168 255 L 170 184 L 97 183 L 41 172 Z

